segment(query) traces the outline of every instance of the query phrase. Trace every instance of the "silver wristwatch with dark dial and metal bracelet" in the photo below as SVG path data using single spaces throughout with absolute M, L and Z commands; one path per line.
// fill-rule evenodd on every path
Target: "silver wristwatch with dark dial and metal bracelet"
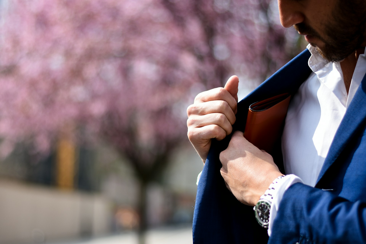
M 284 175 L 277 177 L 270 185 L 269 188 L 266 190 L 264 195 L 261 196 L 257 204 L 255 204 L 253 210 L 255 212 L 255 219 L 259 225 L 264 228 L 268 228 L 269 224 L 269 214 L 273 199 L 273 192 L 275 192 L 275 184 L 278 183 L 278 180 L 283 178 Z

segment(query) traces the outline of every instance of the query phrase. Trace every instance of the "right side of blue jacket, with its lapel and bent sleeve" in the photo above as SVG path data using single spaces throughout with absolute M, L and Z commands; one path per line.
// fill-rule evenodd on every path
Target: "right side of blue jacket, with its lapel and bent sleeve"
M 366 243 L 365 104 L 366 75 L 336 132 L 315 188 L 296 183 L 285 192 L 270 244 Z

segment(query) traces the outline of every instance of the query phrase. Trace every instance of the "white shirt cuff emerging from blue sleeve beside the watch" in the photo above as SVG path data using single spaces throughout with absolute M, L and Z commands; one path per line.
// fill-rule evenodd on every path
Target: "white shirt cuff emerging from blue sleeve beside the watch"
M 303 183 L 302 180 L 295 174 L 288 174 L 285 177 L 279 179 L 277 183 L 273 186 L 273 188 L 275 188 L 275 191 L 273 192 L 272 195 L 273 199 L 269 214 L 268 236 L 271 236 L 273 219 L 275 219 L 276 217 L 277 210 L 279 209 L 283 194 L 292 184 L 295 184 L 297 182 Z

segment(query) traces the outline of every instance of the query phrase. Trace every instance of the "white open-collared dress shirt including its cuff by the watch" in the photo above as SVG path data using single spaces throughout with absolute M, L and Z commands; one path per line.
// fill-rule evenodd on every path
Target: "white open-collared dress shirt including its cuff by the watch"
M 313 73 L 293 96 L 285 119 L 281 146 L 285 172 L 290 175 L 276 184 L 269 235 L 285 190 L 296 182 L 315 186 L 339 124 L 366 73 L 366 57 L 359 55 L 347 95 L 340 63 L 323 59 L 310 45 L 307 49 Z

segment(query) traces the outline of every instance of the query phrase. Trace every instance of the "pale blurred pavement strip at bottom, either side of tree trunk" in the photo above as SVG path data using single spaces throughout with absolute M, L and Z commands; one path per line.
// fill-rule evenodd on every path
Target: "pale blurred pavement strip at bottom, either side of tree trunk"
M 146 233 L 146 244 L 192 244 L 192 227 L 162 228 Z M 135 233 L 124 233 L 68 243 L 55 244 L 138 244 Z

